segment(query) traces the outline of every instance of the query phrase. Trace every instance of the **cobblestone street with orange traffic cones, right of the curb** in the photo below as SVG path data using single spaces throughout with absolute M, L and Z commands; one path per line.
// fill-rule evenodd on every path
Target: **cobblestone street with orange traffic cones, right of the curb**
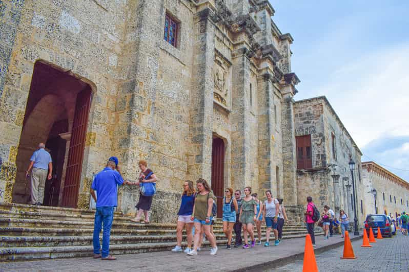
M 377 240 L 372 247 L 361 247 L 362 240 L 352 242 L 357 259 L 343 260 L 343 247 L 316 255 L 318 270 L 326 271 L 409 271 L 409 236 Z M 297 261 L 270 271 L 302 271 L 303 261 Z

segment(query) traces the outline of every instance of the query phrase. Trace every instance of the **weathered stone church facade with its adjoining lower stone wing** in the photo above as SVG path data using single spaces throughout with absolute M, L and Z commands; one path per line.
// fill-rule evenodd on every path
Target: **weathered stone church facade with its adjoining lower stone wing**
M 175 219 L 183 181 L 199 177 L 220 197 L 271 189 L 298 220 L 307 195 L 351 205 L 347 162 L 361 153 L 324 97 L 294 100 L 293 37 L 274 13 L 267 0 L 0 2 L 0 200 L 28 202 L 44 142 L 45 205 L 89 208 L 111 155 L 124 177 L 142 159 L 159 177 L 156 221 Z M 133 213 L 137 188 L 118 194 Z

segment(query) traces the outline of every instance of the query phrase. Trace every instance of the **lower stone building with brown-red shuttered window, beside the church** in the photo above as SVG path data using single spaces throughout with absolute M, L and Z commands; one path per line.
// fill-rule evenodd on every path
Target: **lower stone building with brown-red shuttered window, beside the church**
M 312 196 L 317 208 L 330 206 L 353 214 L 352 175 L 355 162 L 355 192 L 364 192 L 361 182 L 361 151 L 325 97 L 300 100 L 294 106 L 297 146 L 298 202 Z

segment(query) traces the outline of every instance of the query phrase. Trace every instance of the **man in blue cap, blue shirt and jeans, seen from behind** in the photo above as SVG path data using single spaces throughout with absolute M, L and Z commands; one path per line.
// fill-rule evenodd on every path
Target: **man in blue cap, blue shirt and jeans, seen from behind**
M 90 189 L 91 195 L 96 202 L 96 212 L 94 221 L 94 258 L 102 260 L 115 260 L 109 255 L 109 237 L 111 234 L 112 221 L 114 219 L 114 209 L 117 206 L 117 186 L 124 184 L 124 179 L 118 171 L 115 171 L 114 161 L 108 161 L 107 166 L 95 175 Z M 95 195 L 97 192 L 98 198 Z M 100 243 L 99 233 L 104 223 L 102 255 L 99 254 Z

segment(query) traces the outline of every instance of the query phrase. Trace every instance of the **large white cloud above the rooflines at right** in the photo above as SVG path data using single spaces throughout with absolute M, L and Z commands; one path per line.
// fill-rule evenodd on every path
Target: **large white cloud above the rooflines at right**
M 343 63 L 314 93 L 330 100 L 358 146 L 409 135 L 409 43 Z

